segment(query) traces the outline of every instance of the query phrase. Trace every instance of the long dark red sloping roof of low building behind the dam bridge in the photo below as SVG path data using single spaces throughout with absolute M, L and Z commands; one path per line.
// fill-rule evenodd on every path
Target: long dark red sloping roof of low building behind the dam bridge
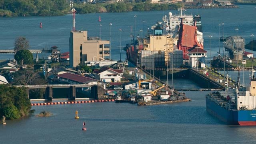
M 94 82 L 94 81 L 98 81 L 98 80 L 95 80 L 93 78 L 88 78 L 88 77 L 85 77 L 85 76 L 79 76 L 77 74 L 71 74 L 71 73 L 64 73 L 64 74 L 59 74 L 58 77 L 60 78 L 66 78 L 68 80 L 72 80 L 72 81 L 75 81 L 75 82 L 81 82 L 81 83 L 89 83 L 89 82 Z

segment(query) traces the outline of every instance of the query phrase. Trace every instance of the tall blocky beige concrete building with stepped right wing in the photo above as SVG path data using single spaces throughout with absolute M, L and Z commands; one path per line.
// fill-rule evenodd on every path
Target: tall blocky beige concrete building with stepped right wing
M 70 67 L 84 61 L 100 61 L 109 57 L 109 40 L 88 37 L 87 31 L 71 31 L 69 38 Z

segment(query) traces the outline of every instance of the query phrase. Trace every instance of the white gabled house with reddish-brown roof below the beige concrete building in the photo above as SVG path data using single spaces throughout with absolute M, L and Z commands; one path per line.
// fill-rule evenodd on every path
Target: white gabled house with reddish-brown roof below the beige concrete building
M 94 73 L 96 73 L 96 79 L 102 82 L 121 82 L 123 76 L 122 70 L 113 70 L 108 67 L 94 70 Z

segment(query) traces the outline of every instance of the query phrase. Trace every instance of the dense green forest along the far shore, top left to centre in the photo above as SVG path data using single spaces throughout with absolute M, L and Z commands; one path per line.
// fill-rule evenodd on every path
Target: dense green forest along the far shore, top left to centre
M 69 0 L 0 0 L 0 16 L 62 16 L 70 13 Z M 127 12 L 178 9 L 182 4 L 130 3 L 74 4 L 76 13 Z

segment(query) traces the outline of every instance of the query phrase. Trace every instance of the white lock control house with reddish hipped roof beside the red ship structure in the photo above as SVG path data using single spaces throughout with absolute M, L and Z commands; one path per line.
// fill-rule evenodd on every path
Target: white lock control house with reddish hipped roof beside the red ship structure
M 188 49 L 189 66 L 191 68 L 205 68 L 205 58 L 207 57 L 206 54 L 206 50 L 199 47 Z

